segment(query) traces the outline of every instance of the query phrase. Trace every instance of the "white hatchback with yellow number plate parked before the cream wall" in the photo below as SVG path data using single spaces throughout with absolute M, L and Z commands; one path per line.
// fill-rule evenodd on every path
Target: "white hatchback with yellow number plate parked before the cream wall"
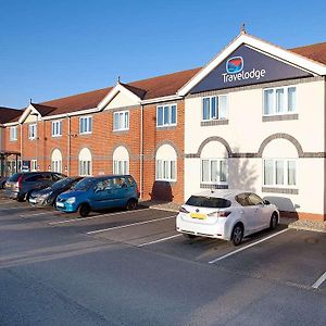
M 177 231 L 230 240 L 235 246 L 259 230 L 274 229 L 279 221 L 276 205 L 243 190 L 206 190 L 191 196 L 176 217 Z

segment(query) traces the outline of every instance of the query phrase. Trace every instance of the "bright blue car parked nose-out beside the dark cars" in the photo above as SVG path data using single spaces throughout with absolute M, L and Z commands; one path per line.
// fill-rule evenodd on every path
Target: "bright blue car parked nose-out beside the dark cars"
M 138 198 L 138 187 L 130 175 L 86 177 L 71 190 L 58 196 L 55 209 L 66 213 L 78 212 L 86 217 L 91 211 L 98 210 L 135 210 Z

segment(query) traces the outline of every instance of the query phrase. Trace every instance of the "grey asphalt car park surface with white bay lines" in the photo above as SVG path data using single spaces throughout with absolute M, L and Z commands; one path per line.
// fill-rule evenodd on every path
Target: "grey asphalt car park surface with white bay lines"
M 326 234 L 280 225 L 235 248 L 184 238 L 172 212 L 0 199 L 0 241 L 1 326 L 325 325 Z

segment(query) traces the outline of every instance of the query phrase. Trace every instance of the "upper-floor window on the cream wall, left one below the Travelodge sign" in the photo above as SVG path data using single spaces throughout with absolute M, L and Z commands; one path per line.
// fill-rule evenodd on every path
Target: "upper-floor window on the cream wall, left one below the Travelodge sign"
M 225 120 L 227 117 L 227 97 L 209 97 L 202 99 L 202 120 Z

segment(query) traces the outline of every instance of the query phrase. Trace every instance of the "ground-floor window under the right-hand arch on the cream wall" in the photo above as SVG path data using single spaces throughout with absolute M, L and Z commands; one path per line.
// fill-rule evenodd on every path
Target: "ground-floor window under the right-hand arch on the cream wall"
M 264 160 L 264 186 L 297 186 L 297 161 L 286 159 Z

